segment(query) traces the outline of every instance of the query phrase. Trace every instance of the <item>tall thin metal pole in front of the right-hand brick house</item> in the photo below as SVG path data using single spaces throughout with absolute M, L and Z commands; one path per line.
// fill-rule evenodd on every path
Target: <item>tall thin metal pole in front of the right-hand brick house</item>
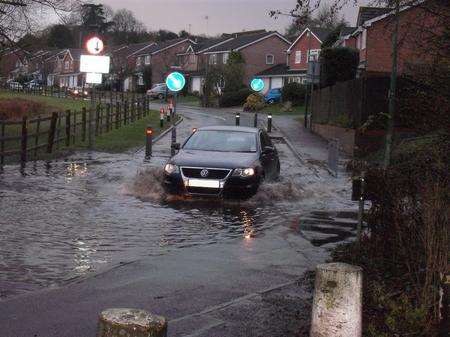
M 386 147 L 384 152 L 384 168 L 389 166 L 391 161 L 392 136 L 394 133 L 394 114 L 396 109 L 396 91 L 397 91 L 397 58 L 398 58 L 398 26 L 399 26 L 400 1 L 395 3 L 395 23 L 392 32 L 392 71 L 391 83 L 389 88 L 389 121 L 386 130 Z

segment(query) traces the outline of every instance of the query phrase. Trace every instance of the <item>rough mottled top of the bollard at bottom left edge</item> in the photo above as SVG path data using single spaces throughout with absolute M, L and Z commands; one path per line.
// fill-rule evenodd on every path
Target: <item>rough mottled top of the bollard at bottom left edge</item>
M 167 337 L 167 321 L 139 309 L 107 309 L 99 317 L 97 337 Z

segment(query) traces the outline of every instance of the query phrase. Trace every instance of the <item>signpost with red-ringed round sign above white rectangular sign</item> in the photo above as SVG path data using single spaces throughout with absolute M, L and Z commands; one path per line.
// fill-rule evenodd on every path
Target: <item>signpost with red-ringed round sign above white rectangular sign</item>
M 95 110 L 95 85 L 102 83 L 102 74 L 109 74 L 109 65 L 111 62 L 109 56 L 99 55 L 104 49 L 105 45 L 103 41 L 99 37 L 94 36 L 86 42 L 86 50 L 89 55 L 81 55 L 80 57 L 80 72 L 86 73 L 86 83 L 92 84 L 88 124 L 88 143 L 90 149 L 94 147 L 95 142 L 95 118 L 93 118 Z

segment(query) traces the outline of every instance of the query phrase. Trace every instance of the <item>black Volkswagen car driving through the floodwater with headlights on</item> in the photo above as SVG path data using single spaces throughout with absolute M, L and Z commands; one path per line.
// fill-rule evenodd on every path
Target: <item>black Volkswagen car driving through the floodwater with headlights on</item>
M 280 160 L 268 134 L 238 126 L 202 127 L 164 166 L 169 194 L 250 197 L 264 179 L 276 179 Z

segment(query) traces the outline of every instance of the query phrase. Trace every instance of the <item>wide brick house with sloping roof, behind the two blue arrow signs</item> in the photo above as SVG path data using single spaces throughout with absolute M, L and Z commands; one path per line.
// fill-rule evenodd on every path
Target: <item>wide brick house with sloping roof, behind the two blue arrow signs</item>
M 219 39 L 206 40 L 188 47 L 179 54 L 181 69 L 190 78 L 189 90 L 201 92 L 206 72 L 211 67 L 222 67 L 231 52 L 240 52 L 245 60 L 244 83 L 260 71 L 285 59 L 289 40 L 278 32 L 265 30 L 224 34 Z M 186 61 L 187 60 L 187 61 Z

